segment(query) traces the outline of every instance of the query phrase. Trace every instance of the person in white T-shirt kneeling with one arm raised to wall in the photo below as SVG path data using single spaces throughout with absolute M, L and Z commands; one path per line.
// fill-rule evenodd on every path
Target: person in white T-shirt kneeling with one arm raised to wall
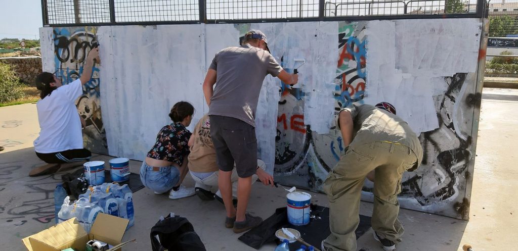
M 90 81 L 94 60 L 100 62 L 98 48 L 88 53 L 81 77 L 70 84 L 63 85 L 50 72 L 42 72 L 36 77 L 41 99 L 36 103 L 40 132 L 34 141 L 34 150 L 48 165 L 34 168 L 29 176 L 81 166 L 92 157 L 92 153 L 83 147 L 81 127 L 84 120 L 74 102 L 83 94 L 82 86 Z

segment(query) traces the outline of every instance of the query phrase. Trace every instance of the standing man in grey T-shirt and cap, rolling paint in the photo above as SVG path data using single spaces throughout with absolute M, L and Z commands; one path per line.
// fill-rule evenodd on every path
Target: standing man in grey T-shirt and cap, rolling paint
M 251 30 L 244 35 L 242 46 L 225 48 L 214 56 L 203 83 L 210 136 L 220 169 L 218 185 L 226 209 L 225 226 L 236 233 L 262 222 L 260 217 L 246 214 L 246 210 L 257 166 L 255 109 L 268 74 L 289 85 L 298 81 L 297 75 L 283 70 L 270 54 L 264 33 Z M 237 209 L 232 203 L 234 163 L 239 176 Z M 269 183 L 274 184 L 273 177 Z

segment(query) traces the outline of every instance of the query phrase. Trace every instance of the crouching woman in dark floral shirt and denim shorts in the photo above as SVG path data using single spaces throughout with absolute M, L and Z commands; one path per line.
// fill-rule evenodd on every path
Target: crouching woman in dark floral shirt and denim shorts
M 180 199 L 194 195 L 194 188 L 181 186 L 189 169 L 187 168 L 187 143 L 191 132 L 186 128 L 191 124 L 194 107 L 185 101 L 176 103 L 169 113 L 172 124 L 162 127 L 156 142 L 148 152 L 140 167 L 140 180 L 155 194 L 171 190 L 170 199 Z

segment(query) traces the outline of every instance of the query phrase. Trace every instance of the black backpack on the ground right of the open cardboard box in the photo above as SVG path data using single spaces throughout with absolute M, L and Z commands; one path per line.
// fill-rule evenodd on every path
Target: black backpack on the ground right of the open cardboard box
M 170 214 L 151 228 L 153 251 L 207 251 L 188 219 Z

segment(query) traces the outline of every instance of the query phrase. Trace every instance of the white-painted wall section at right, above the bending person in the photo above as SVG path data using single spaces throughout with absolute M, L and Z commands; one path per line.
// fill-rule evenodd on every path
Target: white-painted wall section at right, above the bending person
M 444 77 L 476 72 L 479 25 L 479 19 L 370 21 L 365 102 L 390 102 L 418 135 L 438 128 L 433 95 L 447 90 Z

